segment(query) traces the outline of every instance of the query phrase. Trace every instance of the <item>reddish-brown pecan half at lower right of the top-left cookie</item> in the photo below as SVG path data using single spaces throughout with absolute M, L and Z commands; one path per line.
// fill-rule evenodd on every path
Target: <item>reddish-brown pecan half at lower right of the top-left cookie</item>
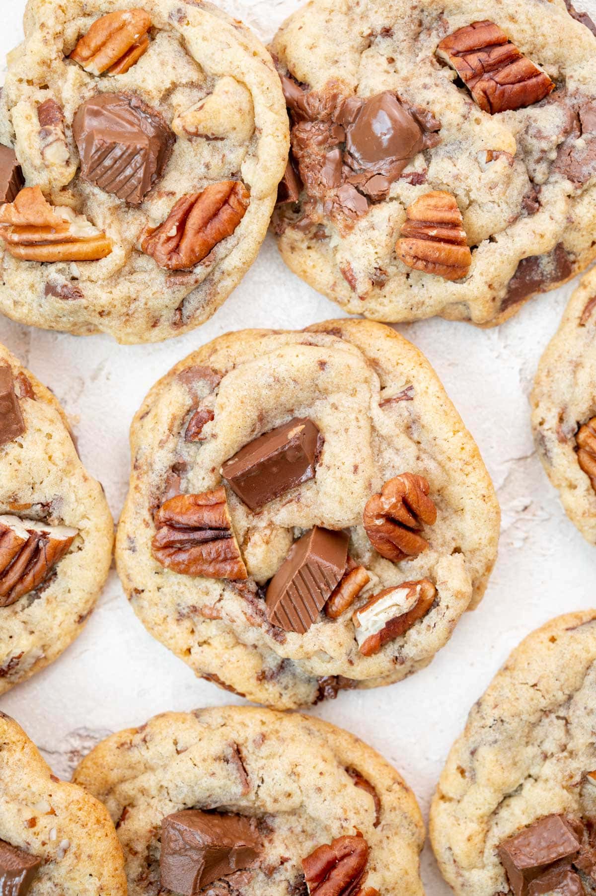
M 179 199 L 160 227 L 143 239 L 143 252 L 160 268 L 183 271 L 203 260 L 222 239 L 231 237 L 246 214 L 250 194 L 238 180 L 207 186 Z

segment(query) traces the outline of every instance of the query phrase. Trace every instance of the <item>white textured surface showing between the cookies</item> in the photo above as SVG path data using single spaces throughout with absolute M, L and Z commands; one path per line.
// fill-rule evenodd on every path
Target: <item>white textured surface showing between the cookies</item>
M 299 0 L 220 0 L 269 39 Z M 596 13 L 596 0 L 581 8 Z M 24 0 L 5 0 L 0 52 L 21 39 Z M 445 756 L 471 704 L 523 636 L 567 610 L 596 600 L 594 552 L 567 521 L 533 449 L 528 395 L 542 349 L 573 285 L 534 299 L 497 330 L 434 320 L 401 328 L 428 356 L 488 465 L 503 511 L 500 553 L 487 595 L 428 668 L 399 685 L 341 694 L 315 714 L 376 746 L 402 772 L 425 815 Z M 82 460 L 106 488 L 117 517 L 128 476 L 128 426 L 143 395 L 178 359 L 220 333 L 243 327 L 298 328 L 338 309 L 281 263 L 271 237 L 236 292 L 209 323 L 161 345 L 118 347 L 106 337 L 77 339 L 33 331 L 0 317 L 0 341 L 50 386 L 73 421 Z M 57 774 L 108 731 L 156 712 L 235 700 L 197 681 L 154 642 L 111 573 L 82 636 L 52 667 L 0 700 L 42 749 Z M 427 848 L 428 896 L 446 896 Z M 389 894 L 384 894 L 389 896 Z

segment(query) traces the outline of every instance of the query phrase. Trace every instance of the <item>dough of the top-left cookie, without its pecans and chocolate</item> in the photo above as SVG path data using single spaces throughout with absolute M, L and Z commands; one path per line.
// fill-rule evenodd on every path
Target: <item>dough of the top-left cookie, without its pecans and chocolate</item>
M 65 58 L 99 16 L 142 7 L 151 46 L 125 74 L 94 77 Z M 77 175 L 72 122 L 100 91 L 129 93 L 171 124 L 205 99 L 201 129 L 177 137 L 164 176 L 139 208 Z M 218 98 L 212 101 L 212 94 Z M 69 159 L 41 158 L 37 107 L 64 108 Z M 95 262 L 20 262 L 0 250 L 0 311 L 22 323 L 77 334 L 109 332 L 121 342 L 167 339 L 203 323 L 234 289 L 263 242 L 285 168 L 288 124 L 281 87 L 264 47 L 241 22 L 209 3 L 186 0 L 30 0 L 25 40 L 9 56 L 0 102 L 0 142 L 14 145 L 26 185 L 73 206 L 113 241 Z M 242 180 L 250 205 L 233 235 L 190 271 L 166 271 L 138 249 L 183 195 Z M 57 295 L 55 294 L 57 293 Z

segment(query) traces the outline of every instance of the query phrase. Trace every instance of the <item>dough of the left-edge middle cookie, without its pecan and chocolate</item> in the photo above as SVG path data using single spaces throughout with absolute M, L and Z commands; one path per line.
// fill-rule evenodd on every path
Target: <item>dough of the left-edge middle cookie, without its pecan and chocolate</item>
M 48 666 L 74 641 L 108 576 L 114 524 L 103 490 L 83 468 L 54 395 L 0 345 L 15 381 L 23 435 L 0 446 L 0 515 L 79 530 L 39 589 L 0 607 L 0 694 Z

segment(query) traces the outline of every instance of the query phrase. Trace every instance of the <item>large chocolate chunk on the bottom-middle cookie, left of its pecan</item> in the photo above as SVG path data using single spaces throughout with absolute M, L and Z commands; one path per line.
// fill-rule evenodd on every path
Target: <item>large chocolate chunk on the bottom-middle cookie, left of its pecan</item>
M 184 809 L 161 823 L 161 886 L 184 896 L 251 865 L 261 840 L 248 818 Z

